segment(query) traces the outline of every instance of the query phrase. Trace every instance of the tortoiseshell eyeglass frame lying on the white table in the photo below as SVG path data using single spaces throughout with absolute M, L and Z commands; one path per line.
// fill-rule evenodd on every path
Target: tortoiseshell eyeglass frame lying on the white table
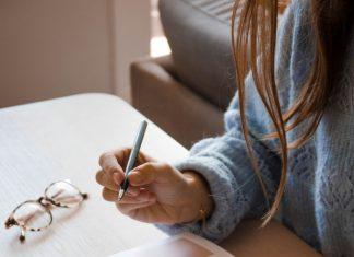
M 75 185 L 73 185 L 72 183 L 70 183 L 68 180 L 58 180 L 58 182 L 50 183 L 45 188 L 44 196 L 39 197 L 37 200 L 27 200 L 27 201 L 24 201 L 24 202 L 20 203 L 16 208 L 14 208 L 12 210 L 12 212 L 10 213 L 9 218 L 7 219 L 7 221 L 4 223 L 5 229 L 10 229 L 10 227 L 12 227 L 14 225 L 20 226 L 20 229 L 21 229 L 21 235 L 20 235 L 19 240 L 20 240 L 21 243 L 24 243 L 24 241 L 26 238 L 25 237 L 26 231 L 39 232 L 39 231 L 43 231 L 45 229 L 48 229 L 51 225 L 51 223 L 52 223 L 52 213 L 51 213 L 51 211 L 49 209 L 50 206 L 55 206 L 55 207 L 59 207 L 59 208 L 70 208 L 70 206 L 62 205 L 60 202 L 56 202 L 54 199 L 51 199 L 51 198 L 49 198 L 49 197 L 46 196 L 48 189 L 51 186 L 54 186 L 55 184 L 57 184 L 57 183 L 66 183 L 66 184 L 72 186 L 74 189 L 78 190 L 79 195 L 82 197 L 82 200 L 80 202 L 78 202 L 78 205 L 80 205 L 81 202 L 83 202 L 84 200 L 86 200 L 88 198 L 88 194 L 82 192 Z M 20 209 L 22 206 L 24 206 L 26 203 L 39 203 L 45 209 L 46 213 L 50 218 L 48 224 L 45 225 L 45 226 L 43 226 L 43 227 L 39 227 L 39 229 L 26 227 L 24 224 L 20 224 L 19 221 L 16 221 L 14 219 L 14 213 L 16 212 L 17 209 Z

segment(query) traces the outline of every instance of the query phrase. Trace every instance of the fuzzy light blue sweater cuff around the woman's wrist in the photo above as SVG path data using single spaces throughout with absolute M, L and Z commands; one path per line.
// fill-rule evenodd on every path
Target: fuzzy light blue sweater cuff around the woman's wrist
M 156 225 L 168 234 L 192 232 L 210 241 L 220 242 L 225 238 L 249 210 L 249 203 L 235 179 L 231 179 L 227 168 L 208 156 L 191 156 L 174 166 L 179 171 L 191 170 L 202 175 L 209 183 L 214 200 L 214 211 L 206 220 L 205 226 L 200 223 Z

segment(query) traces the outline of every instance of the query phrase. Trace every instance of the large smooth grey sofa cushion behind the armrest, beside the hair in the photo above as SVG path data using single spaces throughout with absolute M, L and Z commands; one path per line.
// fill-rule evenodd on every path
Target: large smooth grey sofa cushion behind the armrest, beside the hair
M 176 72 L 187 86 L 225 109 L 235 93 L 231 48 L 233 0 L 160 0 Z

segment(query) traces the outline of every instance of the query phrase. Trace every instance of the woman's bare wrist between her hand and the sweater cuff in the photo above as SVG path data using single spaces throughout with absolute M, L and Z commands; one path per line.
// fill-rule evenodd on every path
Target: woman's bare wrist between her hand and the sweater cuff
M 197 207 L 194 221 L 208 218 L 214 209 L 214 201 L 211 197 L 209 184 L 205 178 L 193 171 L 182 171 L 192 188 L 193 199 Z M 201 214 L 203 213 L 203 214 Z M 202 217 L 204 215 L 204 217 Z

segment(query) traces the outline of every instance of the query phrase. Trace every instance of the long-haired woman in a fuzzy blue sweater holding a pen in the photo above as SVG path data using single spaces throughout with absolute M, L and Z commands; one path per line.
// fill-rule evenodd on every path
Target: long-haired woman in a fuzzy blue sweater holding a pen
M 312 247 L 353 256 L 353 1 L 293 0 L 278 26 L 276 1 L 235 4 L 238 93 L 225 133 L 174 166 L 141 154 L 117 208 L 169 233 L 221 241 L 241 219 L 263 217 L 266 225 L 282 203 L 283 223 Z M 108 201 L 129 151 L 99 160 Z

